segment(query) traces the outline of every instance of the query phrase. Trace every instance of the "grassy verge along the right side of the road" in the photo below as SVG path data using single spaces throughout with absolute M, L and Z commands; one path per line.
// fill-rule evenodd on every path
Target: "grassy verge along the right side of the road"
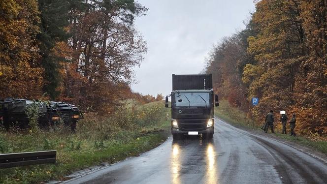
M 260 123 L 256 123 L 253 120 L 247 118 L 246 114 L 239 110 L 238 108 L 232 107 L 227 100 L 221 100 L 219 102 L 219 107 L 215 108 L 215 115 L 218 118 L 221 118 L 234 126 L 241 126 L 250 129 L 254 129 L 257 131 L 262 131 L 260 129 Z M 279 127 L 280 128 L 280 127 Z M 297 143 L 299 145 L 312 148 L 315 151 L 327 154 L 327 141 L 323 140 L 314 140 L 312 138 L 306 138 L 300 135 L 296 137 L 290 136 L 289 134 L 281 134 L 279 133 L 279 129 L 277 129 L 276 136 L 278 138 L 284 139 L 286 141 L 291 141 Z

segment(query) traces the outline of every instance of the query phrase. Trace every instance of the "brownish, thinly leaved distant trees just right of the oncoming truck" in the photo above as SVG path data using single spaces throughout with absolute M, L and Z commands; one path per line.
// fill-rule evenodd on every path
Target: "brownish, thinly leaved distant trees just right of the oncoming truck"
M 206 73 L 212 73 L 215 91 L 235 107 L 248 108 L 247 89 L 242 81 L 244 65 L 253 62 L 247 52 L 248 30 L 225 37 L 209 56 Z

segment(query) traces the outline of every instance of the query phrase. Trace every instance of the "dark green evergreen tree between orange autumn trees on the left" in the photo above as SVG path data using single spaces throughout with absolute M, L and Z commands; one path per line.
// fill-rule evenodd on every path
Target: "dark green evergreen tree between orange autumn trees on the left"
M 67 42 L 68 13 L 70 1 L 67 0 L 38 0 L 40 11 L 40 32 L 37 34 L 39 41 L 39 55 L 44 69 L 43 92 L 49 94 L 51 99 L 56 99 L 60 94 L 58 89 L 61 81 L 61 61 L 69 58 L 59 54 L 63 43 Z M 61 42 L 61 43 L 59 43 Z M 54 53 L 56 47 L 57 54 Z

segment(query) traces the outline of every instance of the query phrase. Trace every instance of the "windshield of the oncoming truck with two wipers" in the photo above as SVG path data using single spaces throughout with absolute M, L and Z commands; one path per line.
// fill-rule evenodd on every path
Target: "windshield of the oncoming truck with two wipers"
M 175 103 L 177 107 L 181 106 L 210 106 L 208 92 L 181 92 L 175 93 Z

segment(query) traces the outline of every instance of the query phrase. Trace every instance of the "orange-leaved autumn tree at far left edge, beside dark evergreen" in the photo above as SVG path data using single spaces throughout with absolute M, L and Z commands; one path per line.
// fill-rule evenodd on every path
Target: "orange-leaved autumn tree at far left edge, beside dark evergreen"
M 37 98 L 42 94 L 36 35 L 39 33 L 36 0 L 0 1 L 0 98 Z

